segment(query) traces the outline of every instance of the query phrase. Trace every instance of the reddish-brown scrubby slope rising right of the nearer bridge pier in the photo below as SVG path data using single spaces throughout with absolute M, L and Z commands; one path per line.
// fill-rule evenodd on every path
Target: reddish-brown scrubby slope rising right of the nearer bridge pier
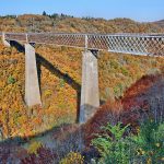
M 115 103 L 108 99 L 85 125 L 86 141 L 90 143 L 93 133 L 102 131 L 99 127 L 105 126 L 107 121 L 115 125 L 121 120 L 125 125 L 130 124 L 134 128 L 138 128 L 140 121 L 144 121 L 147 117 L 152 119 L 155 117 L 156 120 L 162 121 L 164 118 L 163 82 L 164 73 L 143 75 L 124 93 L 122 98 Z

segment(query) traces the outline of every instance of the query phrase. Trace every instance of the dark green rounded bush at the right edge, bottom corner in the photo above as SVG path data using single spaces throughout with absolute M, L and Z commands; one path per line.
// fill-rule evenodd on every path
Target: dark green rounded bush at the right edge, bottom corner
M 144 121 L 138 136 L 133 136 L 131 140 L 140 161 L 162 162 L 162 157 L 164 157 L 164 124 L 153 120 Z

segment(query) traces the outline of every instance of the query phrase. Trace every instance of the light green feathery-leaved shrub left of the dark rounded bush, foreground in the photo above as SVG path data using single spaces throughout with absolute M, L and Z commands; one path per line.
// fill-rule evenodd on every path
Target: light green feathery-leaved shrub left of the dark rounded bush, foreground
M 92 140 L 92 144 L 102 155 L 99 163 L 128 163 L 130 160 L 129 144 L 124 139 L 124 133 L 126 132 L 128 126 L 121 128 L 121 124 L 118 122 L 116 126 L 110 126 L 110 124 L 107 124 L 106 127 L 102 128 L 105 133 Z

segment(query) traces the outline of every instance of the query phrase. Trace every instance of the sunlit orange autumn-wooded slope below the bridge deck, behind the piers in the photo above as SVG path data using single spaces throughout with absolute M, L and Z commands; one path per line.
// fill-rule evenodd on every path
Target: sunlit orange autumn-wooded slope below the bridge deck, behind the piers
M 24 104 L 24 52 L 1 46 L 0 108 L 3 139 L 33 136 L 61 122 L 75 122 L 81 85 L 81 50 L 37 46 L 43 106 Z M 124 96 L 142 75 L 161 72 L 163 59 L 101 52 L 102 102 Z

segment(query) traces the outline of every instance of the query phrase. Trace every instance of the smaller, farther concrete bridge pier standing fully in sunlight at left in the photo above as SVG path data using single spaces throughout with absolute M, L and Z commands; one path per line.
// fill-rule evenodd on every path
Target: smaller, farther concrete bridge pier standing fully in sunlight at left
M 25 102 L 27 106 L 42 105 L 35 48 L 25 44 Z

